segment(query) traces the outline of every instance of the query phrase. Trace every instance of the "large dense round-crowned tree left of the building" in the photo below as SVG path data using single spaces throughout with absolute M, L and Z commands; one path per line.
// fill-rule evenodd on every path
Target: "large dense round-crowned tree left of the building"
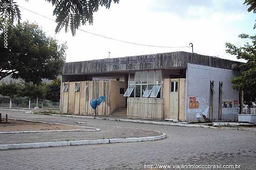
M 1 25 L 1 24 L 0 24 Z M 38 84 L 42 78 L 55 79 L 66 60 L 66 44 L 47 37 L 37 24 L 23 22 L 8 26 L 8 46 L 0 32 L 0 80 L 5 76 Z

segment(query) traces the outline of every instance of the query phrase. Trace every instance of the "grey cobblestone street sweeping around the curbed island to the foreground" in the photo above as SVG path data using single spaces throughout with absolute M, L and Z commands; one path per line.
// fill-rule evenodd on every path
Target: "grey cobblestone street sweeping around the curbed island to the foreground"
M 145 164 L 238 164 L 240 170 L 256 169 L 256 132 L 10 112 L 20 119 L 81 121 L 101 129 L 111 129 L 111 126 L 149 129 L 164 132 L 167 138 L 152 142 L 0 151 L 1 170 L 137 170 L 144 169 Z

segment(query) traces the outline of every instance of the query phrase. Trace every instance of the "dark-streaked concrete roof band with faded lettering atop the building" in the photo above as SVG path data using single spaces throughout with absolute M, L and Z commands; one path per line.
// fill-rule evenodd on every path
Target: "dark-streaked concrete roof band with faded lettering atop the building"
M 186 69 L 188 63 L 222 69 L 234 69 L 241 62 L 177 51 L 64 63 L 63 75 L 87 75 L 149 69 Z

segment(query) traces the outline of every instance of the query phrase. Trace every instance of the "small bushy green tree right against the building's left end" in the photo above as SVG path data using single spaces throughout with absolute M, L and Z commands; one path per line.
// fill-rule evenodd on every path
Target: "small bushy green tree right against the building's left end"
M 47 85 L 46 99 L 49 101 L 58 102 L 60 101 L 60 95 L 61 95 L 61 80 L 58 77 L 54 79 L 51 84 Z

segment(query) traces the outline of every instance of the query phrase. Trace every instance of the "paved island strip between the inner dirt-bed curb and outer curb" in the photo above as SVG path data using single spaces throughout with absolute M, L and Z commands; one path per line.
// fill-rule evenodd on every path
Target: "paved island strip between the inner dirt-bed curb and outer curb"
M 115 139 L 115 138 L 138 138 L 148 136 L 162 135 L 161 132 L 154 132 L 152 130 L 143 130 L 135 128 L 125 128 L 123 126 L 99 126 L 77 124 L 75 121 L 63 120 L 55 116 L 37 115 L 20 113 L 17 111 L 1 111 L 2 113 L 8 113 L 9 118 L 37 120 L 52 123 L 61 123 L 66 125 L 75 126 L 88 126 L 96 127 L 101 131 L 92 132 L 40 132 L 40 133 L 11 133 L 0 134 L 0 145 L 3 144 L 21 144 L 21 143 L 35 143 L 35 142 L 56 142 L 56 141 L 71 141 L 71 140 L 97 140 L 97 139 Z M 65 119 L 65 118 L 64 118 Z M 83 129 L 81 127 L 81 129 Z

